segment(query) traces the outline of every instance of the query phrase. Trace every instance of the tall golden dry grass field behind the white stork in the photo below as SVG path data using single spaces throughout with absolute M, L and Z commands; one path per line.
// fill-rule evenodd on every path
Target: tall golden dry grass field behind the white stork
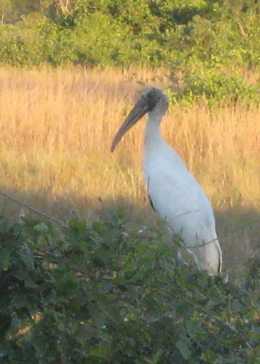
M 132 228 L 156 225 L 142 182 L 144 120 L 113 154 L 110 144 L 145 86 L 176 89 L 168 75 L 1 68 L 0 191 L 60 221 L 123 205 Z M 241 274 L 260 253 L 260 110 L 172 105 L 162 130 L 213 204 L 224 268 Z M 1 202 L 16 219 L 21 207 Z

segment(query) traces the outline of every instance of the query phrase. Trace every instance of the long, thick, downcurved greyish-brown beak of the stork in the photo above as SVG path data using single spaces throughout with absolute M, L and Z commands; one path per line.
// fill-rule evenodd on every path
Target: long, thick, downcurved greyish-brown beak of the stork
M 130 111 L 129 115 L 125 119 L 125 122 L 122 124 L 121 128 L 118 130 L 112 144 L 111 144 L 111 152 L 114 151 L 120 139 L 123 135 L 129 130 L 143 115 L 148 112 L 148 105 L 144 98 L 138 100 L 133 109 Z

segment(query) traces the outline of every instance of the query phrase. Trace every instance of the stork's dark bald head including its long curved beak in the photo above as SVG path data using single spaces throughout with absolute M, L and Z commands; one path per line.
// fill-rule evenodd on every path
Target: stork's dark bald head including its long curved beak
M 123 135 L 147 112 L 157 114 L 159 118 L 164 115 L 169 105 L 167 94 L 158 87 L 149 87 L 143 91 L 141 97 L 130 111 L 111 145 L 113 152 Z

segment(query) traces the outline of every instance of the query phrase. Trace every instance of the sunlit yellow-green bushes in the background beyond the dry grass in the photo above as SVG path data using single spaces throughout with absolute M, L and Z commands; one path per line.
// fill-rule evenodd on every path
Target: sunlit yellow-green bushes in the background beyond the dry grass
M 258 103 L 241 77 L 260 67 L 258 1 L 4 0 L 0 17 L 2 64 L 166 66 L 176 101 Z

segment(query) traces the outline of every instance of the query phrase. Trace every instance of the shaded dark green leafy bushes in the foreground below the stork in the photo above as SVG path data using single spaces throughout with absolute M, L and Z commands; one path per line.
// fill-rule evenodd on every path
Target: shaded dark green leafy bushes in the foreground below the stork
M 259 262 L 246 286 L 182 267 L 161 234 L 107 221 L 0 225 L 1 363 L 257 363 Z

